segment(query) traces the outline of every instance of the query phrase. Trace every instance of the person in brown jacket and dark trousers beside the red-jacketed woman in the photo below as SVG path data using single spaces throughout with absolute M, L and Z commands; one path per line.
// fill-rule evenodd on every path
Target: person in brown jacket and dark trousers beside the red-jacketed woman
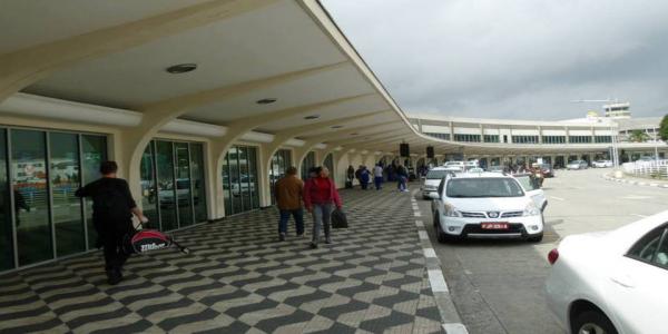
M 284 242 L 287 235 L 287 220 L 292 215 L 295 219 L 297 237 L 304 236 L 304 209 L 302 208 L 304 181 L 297 177 L 297 168 L 288 167 L 285 176 L 275 186 L 276 204 L 278 206 L 278 239 Z

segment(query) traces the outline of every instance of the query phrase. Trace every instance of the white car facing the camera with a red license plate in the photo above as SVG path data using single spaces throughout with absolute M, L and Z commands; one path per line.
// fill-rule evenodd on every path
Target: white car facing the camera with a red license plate
M 542 210 L 510 175 L 448 175 L 429 196 L 441 243 L 464 237 L 542 240 Z

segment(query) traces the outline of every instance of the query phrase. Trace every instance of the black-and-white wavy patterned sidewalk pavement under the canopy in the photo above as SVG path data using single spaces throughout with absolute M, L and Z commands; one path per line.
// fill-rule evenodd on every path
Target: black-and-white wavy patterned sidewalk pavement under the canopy
M 267 208 L 176 233 L 190 255 L 134 256 L 117 286 L 99 252 L 0 276 L 0 333 L 441 333 L 409 193 L 342 196 L 351 227 L 318 249 Z

